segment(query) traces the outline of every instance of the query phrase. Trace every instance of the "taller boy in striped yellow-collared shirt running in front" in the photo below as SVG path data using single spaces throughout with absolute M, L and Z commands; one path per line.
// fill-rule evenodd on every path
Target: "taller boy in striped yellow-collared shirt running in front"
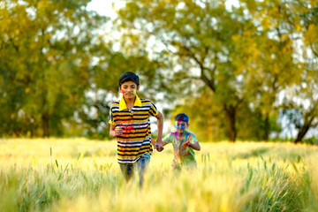
M 139 77 L 134 72 L 125 72 L 119 78 L 120 101 L 110 105 L 110 137 L 117 138 L 117 161 L 124 177 L 129 181 L 136 167 L 140 174 L 140 185 L 150 156 L 151 144 L 150 116 L 157 118 L 158 136 L 155 142 L 157 151 L 163 150 L 163 114 L 155 104 L 140 99 Z

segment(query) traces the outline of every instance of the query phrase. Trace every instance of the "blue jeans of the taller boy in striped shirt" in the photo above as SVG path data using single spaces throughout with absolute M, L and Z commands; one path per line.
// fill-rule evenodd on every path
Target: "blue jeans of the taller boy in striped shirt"
M 122 171 L 125 180 L 128 182 L 133 178 L 133 170 L 137 167 L 140 176 L 140 186 L 143 184 L 143 176 L 148 167 L 150 158 L 141 157 L 136 163 L 119 163 L 120 170 Z

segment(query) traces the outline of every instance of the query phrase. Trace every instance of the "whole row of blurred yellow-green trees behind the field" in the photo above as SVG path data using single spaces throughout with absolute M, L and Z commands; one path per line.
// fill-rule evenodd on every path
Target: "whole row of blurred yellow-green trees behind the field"
M 2 1 L 0 135 L 107 138 L 131 71 L 200 140 L 276 138 L 282 114 L 304 140 L 318 124 L 317 2 L 230 2 L 125 0 L 110 19 L 88 0 Z

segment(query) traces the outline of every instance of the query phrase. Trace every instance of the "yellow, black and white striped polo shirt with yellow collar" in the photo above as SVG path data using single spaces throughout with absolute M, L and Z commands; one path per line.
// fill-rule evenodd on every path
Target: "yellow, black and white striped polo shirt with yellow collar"
M 118 163 L 135 163 L 141 156 L 150 157 L 153 148 L 149 117 L 157 114 L 153 102 L 137 95 L 132 111 L 127 109 L 123 96 L 110 105 L 110 125 L 121 126 L 124 130 L 117 136 Z

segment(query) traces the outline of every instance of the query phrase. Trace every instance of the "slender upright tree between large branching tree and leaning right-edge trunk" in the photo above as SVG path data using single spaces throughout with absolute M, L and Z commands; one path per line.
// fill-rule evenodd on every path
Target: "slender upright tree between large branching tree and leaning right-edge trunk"
M 302 63 L 299 60 L 299 11 L 303 7 L 296 1 L 241 1 L 254 18 L 261 34 L 267 39 L 256 41 L 259 57 L 254 64 L 255 76 L 261 80 L 253 101 L 254 110 L 261 113 L 263 140 L 269 140 L 269 117 L 279 108 L 277 98 L 285 88 L 299 84 Z M 293 76 L 292 78 L 290 76 Z

